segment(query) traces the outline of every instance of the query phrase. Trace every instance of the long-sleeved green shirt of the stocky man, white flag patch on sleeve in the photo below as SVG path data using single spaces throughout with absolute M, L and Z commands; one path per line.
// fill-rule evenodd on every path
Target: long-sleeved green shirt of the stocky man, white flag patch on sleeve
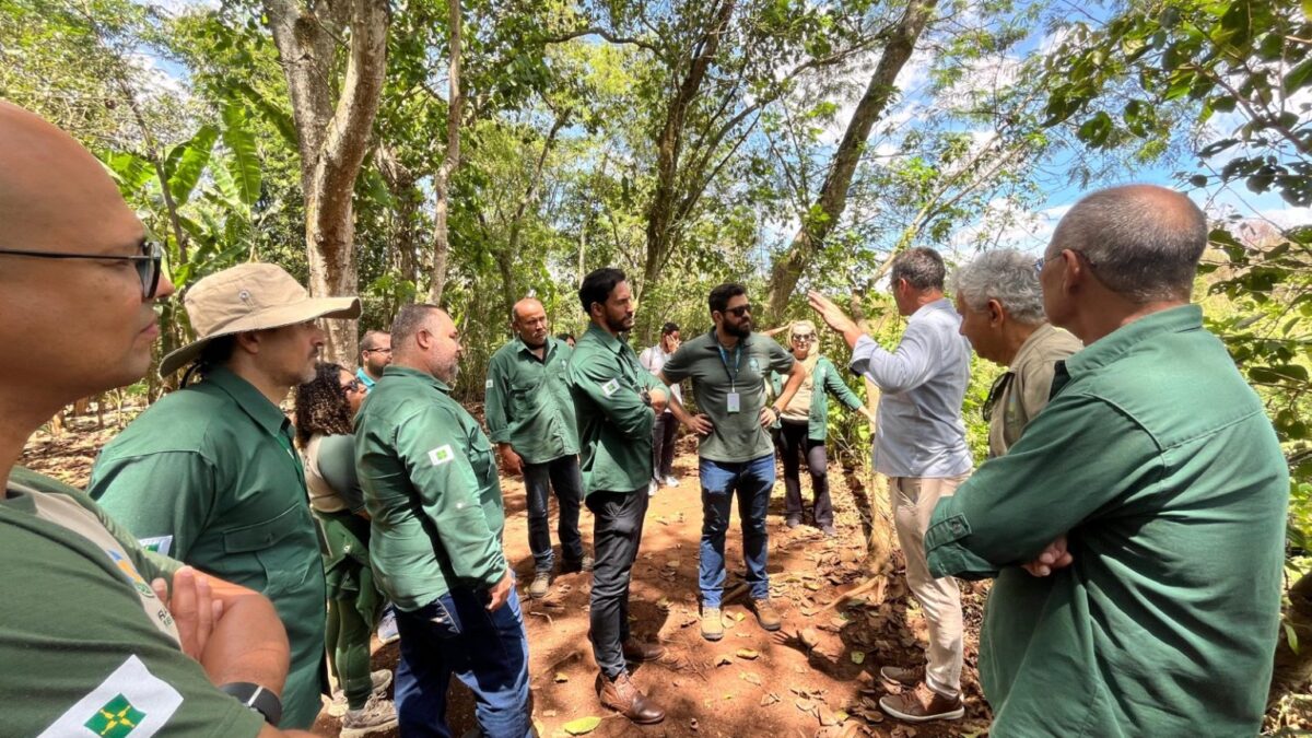
M 405 612 L 506 571 L 492 443 L 440 380 L 390 365 L 356 418 L 379 588 Z

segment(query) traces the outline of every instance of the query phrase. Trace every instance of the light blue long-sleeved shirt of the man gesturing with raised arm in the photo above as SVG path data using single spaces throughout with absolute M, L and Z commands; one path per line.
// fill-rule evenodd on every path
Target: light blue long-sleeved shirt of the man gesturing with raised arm
M 882 391 L 875 425 L 875 471 L 888 477 L 956 477 L 971 470 L 962 401 L 970 383 L 971 345 L 947 299 L 924 305 L 907 320 L 897 349 L 870 336 L 851 351 L 851 370 Z

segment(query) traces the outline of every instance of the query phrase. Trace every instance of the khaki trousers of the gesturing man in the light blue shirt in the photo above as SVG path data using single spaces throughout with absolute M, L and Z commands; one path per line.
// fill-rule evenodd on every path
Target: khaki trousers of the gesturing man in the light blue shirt
M 951 496 L 967 477 L 888 478 L 897 545 L 907 557 L 907 584 L 929 622 L 925 684 L 945 697 L 955 697 L 962 691 L 962 592 L 956 579 L 929 575 L 925 531 L 939 498 Z

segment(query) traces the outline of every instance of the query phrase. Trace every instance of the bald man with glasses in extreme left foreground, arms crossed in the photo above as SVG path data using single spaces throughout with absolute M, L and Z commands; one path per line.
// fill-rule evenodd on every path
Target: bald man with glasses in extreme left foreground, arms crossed
M 146 552 L 81 492 L 14 466 L 63 406 L 146 373 L 173 285 L 100 162 L 7 102 L 0 261 L 0 340 L 42 336 L 0 365 L 4 734 L 291 735 L 256 712 L 277 718 L 287 674 L 269 600 Z

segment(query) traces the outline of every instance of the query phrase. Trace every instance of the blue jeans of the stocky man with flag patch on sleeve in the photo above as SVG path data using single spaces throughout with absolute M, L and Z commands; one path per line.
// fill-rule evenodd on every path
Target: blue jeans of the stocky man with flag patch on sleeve
M 451 675 L 474 692 L 479 726 L 491 738 L 533 734 L 529 641 L 520 597 L 487 611 L 487 590 L 451 590 L 415 612 L 396 611 L 401 633 L 396 716 L 405 738 L 450 738 Z

